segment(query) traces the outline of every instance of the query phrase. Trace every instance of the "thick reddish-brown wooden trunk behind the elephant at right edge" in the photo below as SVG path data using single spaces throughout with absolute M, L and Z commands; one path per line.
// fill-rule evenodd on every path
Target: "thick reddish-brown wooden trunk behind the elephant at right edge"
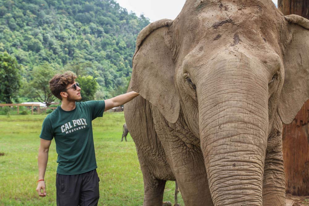
M 309 0 L 278 0 L 284 15 L 296 14 L 309 19 Z M 291 124 L 283 124 L 282 146 L 286 193 L 309 195 L 309 100 Z

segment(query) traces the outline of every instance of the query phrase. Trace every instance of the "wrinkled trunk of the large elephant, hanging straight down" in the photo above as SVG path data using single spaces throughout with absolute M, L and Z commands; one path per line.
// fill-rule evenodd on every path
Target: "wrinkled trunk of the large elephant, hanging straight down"
M 216 206 L 262 205 L 268 90 L 252 81 L 248 64 L 217 63 L 221 77 L 209 75 L 197 85 L 201 149 L 211 196 Z

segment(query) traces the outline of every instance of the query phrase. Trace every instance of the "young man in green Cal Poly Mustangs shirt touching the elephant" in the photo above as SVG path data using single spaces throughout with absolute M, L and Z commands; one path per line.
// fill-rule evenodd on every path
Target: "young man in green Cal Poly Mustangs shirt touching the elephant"
M 57 205 L 92 206 L 99 200 L 99 177 L 96 172 L 91 121 L 103 112 L 125 104 L 136 92 L 129 92 L 103 101 L 81 100 L 81 88 L 72 72 L 56 74 L 49 88 L 58 99 L 58 106 L 44 120 L 38 156 L 39 180 L 36 191 L 46 196 L 44 175 L 51 140 L 55 138 L 58 154 L 56 176 Z

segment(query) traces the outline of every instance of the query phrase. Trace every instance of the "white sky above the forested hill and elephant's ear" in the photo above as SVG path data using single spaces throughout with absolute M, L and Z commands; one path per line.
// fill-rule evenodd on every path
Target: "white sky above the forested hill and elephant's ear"
M 144 14 L 150 22 L 159 19 L 175 19 L 184 6 L 185 0 L 115 0 L 128 12 L 137 16 Z M 277 0 L 273 0 L 277 4 Z

